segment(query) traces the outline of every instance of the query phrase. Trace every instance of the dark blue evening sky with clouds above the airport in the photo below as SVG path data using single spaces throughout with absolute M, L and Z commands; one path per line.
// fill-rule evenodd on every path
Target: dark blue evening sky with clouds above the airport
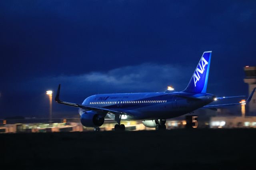
M 45 91 L 81 103 L 95 93 L 183 90 L 212 50 L 208 93 L 248 95 L 256 1 L 0 2 L 0 117 L 44 117 Z M 54 113 L 75 108 L 54 103 Z M 47 115 L 45 116 L 47 117 Z

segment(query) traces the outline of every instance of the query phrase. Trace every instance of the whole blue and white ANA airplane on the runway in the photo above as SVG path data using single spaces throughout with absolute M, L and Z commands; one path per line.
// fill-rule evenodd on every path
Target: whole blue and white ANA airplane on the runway
M 85 127 L 93 127 L 99 131 L 103 125 L 106 115 L 116 121 L 114 130 L 125 130 L 121 120 L 141 120 L 146 127 L 156 130 L 166 129 L 166 119 L 179 117 L 191 113 L 200 108 L 216 110 L 216 107 L 247 104 L 252 99 L 248 97 L 245 103 L 230 103 L 219 105 L 208 105 L 220 99 L 234 97 L 216 97 L 206 93 L 208 75 L 210 69 L 212 51 L 205 51 L 194 71 L 186 89 L 180 92 L 169 87 L 164 92 L 156 93 L 115 93 L 97 94 L 87 97 L 82 104 L 64 102 L 59 99 L 60 85 L 55 101 L 72 107 L 78 107 L 80 121 Z

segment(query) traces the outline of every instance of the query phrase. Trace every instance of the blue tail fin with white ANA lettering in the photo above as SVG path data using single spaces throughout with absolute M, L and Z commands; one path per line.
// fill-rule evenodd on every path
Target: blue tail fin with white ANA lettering
M 188 86 L 183 92 L 206 93 L 212 51 L 203 53 Z

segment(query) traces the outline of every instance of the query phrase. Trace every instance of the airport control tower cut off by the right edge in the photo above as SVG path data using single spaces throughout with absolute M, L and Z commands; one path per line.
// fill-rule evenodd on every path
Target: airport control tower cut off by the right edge
M 252 93 L 254 87 L 256 87 L 256 67 L 244 67 L 245 79 L 244 83 L 249 85 L 249 95 Z M 252 96 L 252 100 L 249 103 L 249 113 L 256 113 L 256 95 Z

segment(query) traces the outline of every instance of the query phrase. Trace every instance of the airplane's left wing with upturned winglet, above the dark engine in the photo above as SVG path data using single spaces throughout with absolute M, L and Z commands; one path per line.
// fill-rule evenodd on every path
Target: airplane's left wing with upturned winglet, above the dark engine
M 127 113 L 124 113 L 122 111 L 116 111 L 116 110 L 107 109 L 107 108 L 104 108 L 104 107 L 93 107 L 93 106 L 88 106 L 88 105 L 80 105 L 80 104 L 76 104 L 76 103 L 69 103 L 69 102 L 61 101 L 60 100 L 60 85 L 58 87 L 58 91 L 57 91 L 57 95 L 55 97 L 55 101 L 60 103 L 60 104 L 63 104 L 63 105 L 78 107 L 78 108 L 81 108 L 81 109 L 88 109 L 88 110 L 93 110 L 93 111 L 105 111 L 105 112 L 113 113 L 115 115 L 128 115 Z

